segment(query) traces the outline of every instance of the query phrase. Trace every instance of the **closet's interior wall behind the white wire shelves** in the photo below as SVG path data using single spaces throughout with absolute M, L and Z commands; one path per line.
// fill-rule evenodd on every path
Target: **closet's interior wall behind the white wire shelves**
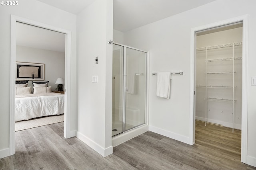
M 196 37 L 196 48 L 209 47 L 229 43 L 242 42 L 242 27 L 208 33 Z M 235 57 L 242 57 L 242 45 L 234 47 Z M 207 59 L 232 58 L 233 47 L 207 50 Z M 232 72 L 233 61 L 207 62 L 206 51 L 197 51 L 196 54 L 196 85 L 205 85 L 205 68 L 207 72 Z M 241 129 L 242 118 L 242 60 L 234 61 L 234 128 Z M 207 74 L 207 85 L 233 86 L 233 74 Z M 207 88 L 207 97 L 232 99 L 233 89 Z M 207 102 L 205 113 L 205 88 L 196 88 L 196 119 L 233 127 L 232 103 Z

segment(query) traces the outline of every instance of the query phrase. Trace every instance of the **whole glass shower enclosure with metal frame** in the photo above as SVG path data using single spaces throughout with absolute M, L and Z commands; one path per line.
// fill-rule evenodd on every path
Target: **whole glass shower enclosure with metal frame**
M 146 123 L 147 52 L 113 43 L 112 137 Z

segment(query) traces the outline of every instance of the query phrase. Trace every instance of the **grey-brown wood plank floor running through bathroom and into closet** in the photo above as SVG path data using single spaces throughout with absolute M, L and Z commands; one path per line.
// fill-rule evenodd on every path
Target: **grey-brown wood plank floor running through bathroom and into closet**
M 55 123 L 15 132 L 16 153 L 0 159 L 0 170 L 256 169 L 240 162 L 241 133 L 224 137 L 226 131 L 211 126 L 196 123 L 193 146 L 148 131 L 104 158 L 76 137 L 65 139 L 64 123 Z

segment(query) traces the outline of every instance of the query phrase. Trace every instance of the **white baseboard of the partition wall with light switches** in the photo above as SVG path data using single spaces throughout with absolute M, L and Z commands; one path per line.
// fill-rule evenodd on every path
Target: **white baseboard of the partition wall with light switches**
M 76 132 L 76 137 L 104 157 L 113 153 L 113 146 L 103 148 L 98 143 L 92 141 L 90 138 L 86 137 L 80 132 Z

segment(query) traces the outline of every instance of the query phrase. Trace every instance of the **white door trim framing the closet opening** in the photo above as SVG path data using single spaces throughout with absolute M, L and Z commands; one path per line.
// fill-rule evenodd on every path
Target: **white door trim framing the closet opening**
M 189 119 L 189 143 L 195 144 L 195 91 L 196 91 L 196 33 L 207 29 L 222 27 L 234 23 L 242 22 L 242 124 L 241 124 L 241 162 L 247 162 L 247 106 L 248 106 L 248 15 L 230 18 L 224 21 L 218 21 L 190 30 L 190 119 Z

